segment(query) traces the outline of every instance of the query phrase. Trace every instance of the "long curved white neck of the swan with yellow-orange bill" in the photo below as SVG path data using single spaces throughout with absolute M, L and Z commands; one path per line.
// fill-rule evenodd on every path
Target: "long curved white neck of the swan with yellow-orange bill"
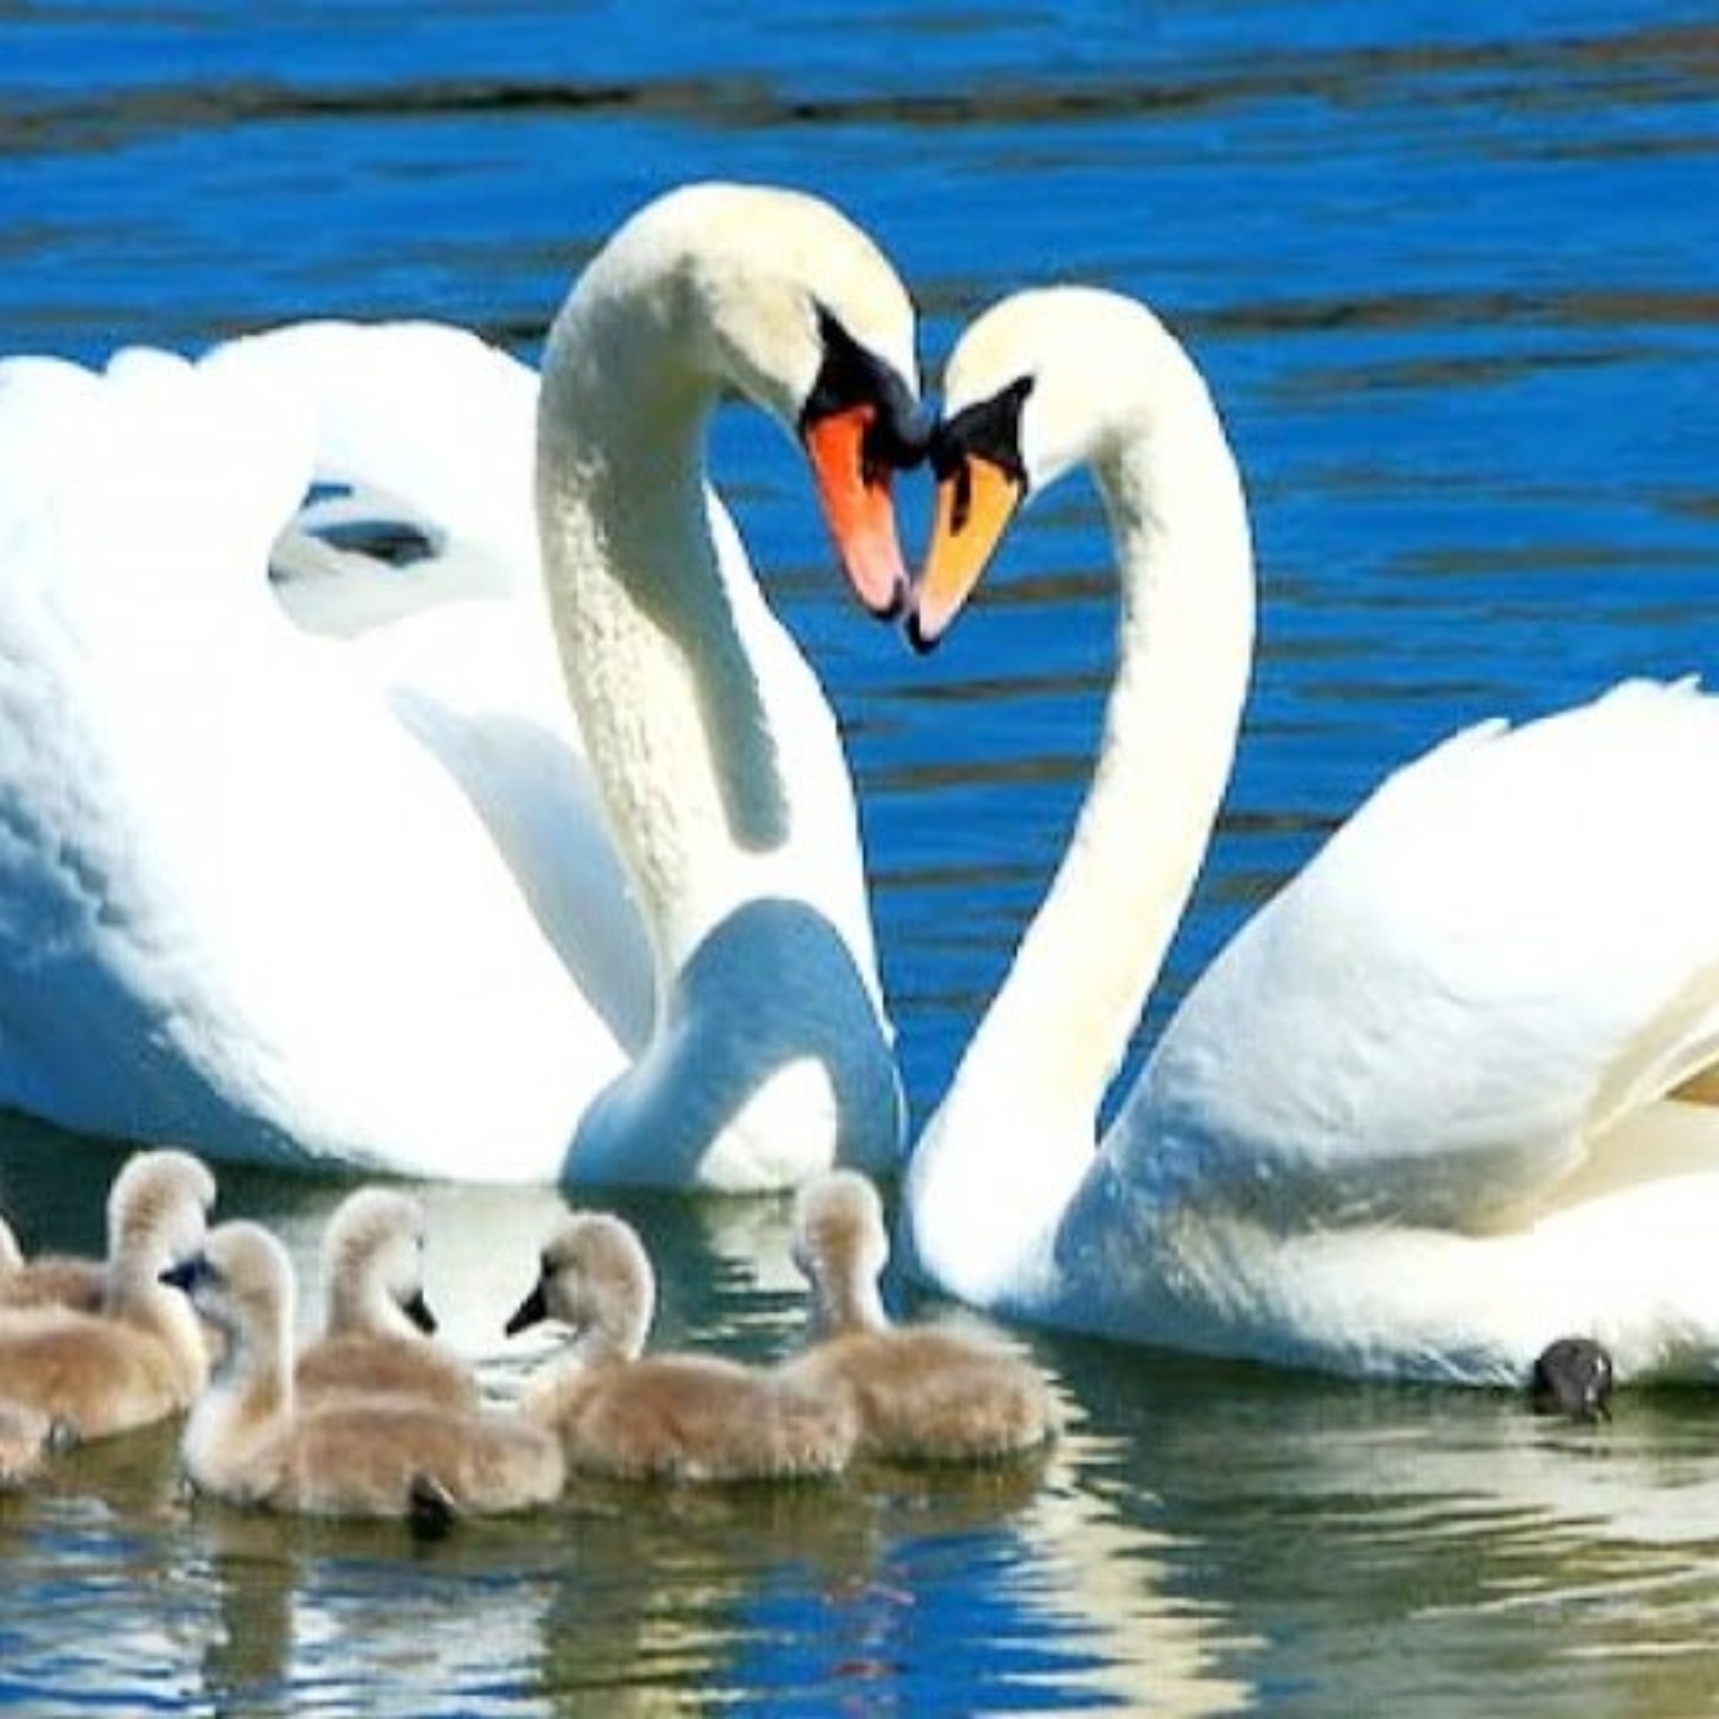
M 1000 1176 L 1016 1227 L 1049 1234 L 1090 1164 L 1098 1105 L 1229 779 L 1253 650 L 1241 478 L 1203 380 L 1167 335 L 1141 375 L 1092 457 L 1123 596 L 1098 762 L 1055 878 L 915 1152 L 921 1251 L 927 1210 L 949 1207 L 959 1222 L 978 1178 Z M 966 1165 L 944 1200 L 930 1179 L 952 1157 Z M 999 1269 L 1021 1245 L 995 1238 Z

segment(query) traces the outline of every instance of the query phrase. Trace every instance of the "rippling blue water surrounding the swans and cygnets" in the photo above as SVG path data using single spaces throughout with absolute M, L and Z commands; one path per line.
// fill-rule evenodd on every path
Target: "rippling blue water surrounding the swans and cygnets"
M 913 282 L 932 376 L 1011 287 L 1148 297 L 1243 461 L 1262 652 L 1145 1038 L 1392 763 L 1480 717 L 1712 669 L 1709 5 L 719 10 L 0 7 L 0 351 L 98 359 L 335 313 L 450 318 L 531 356 L 609 229 L 707 175 L 842 203 Z M 1083 786 L 1114 615 L 1097 505 L 1035 507 L 920 664 L 830 578 L 779 435 L 736 411 L 717 454 L 849 734 L 923 1116 Z M 95 1245 L 112 1162 L 0 1131 L 5 1205 L 43 1243 Z M 335 1196 L 223 1178 L 223 1207 L 306 1262 Z M 433 1222 L 505 1255 L 554 1208 L 485 1198 L 447 1193 Z M 787 1341 L 777 1205 L 636 1215 L 667 1341 Z M 1571 1432 L 1490 1398 L 1037 1349 L 1078 1416 L 1042 1471 L 593 1494 L 416 1554 L 189 1509 L 170 1437 L 79 1453 L 0 1499 L 0 1704 L 1710 1710 L 1702 1401 Z

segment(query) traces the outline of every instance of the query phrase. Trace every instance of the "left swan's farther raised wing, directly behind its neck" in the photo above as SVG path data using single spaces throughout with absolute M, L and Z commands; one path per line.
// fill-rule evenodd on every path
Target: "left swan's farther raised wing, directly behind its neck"
M 468 328 L 304 321 L 203 363 L 291 388 L 318 490 L 272 555 L 301 627 L 349 641 L 469 796 L 584 995 L 629 1050 L 652 956 L 586 760 L 543 598 L 538 376 Z M 364 545 L 409 545 L 399 562 Z

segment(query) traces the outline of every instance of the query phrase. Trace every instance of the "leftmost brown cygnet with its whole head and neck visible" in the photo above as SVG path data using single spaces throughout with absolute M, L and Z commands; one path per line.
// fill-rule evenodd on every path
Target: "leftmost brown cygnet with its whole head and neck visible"
M 69 1306 L 0 1312 L 0 1391 L 101 1439 L 186 1408 L 208 1373 L 208 1349 L 180 1296 L 156 1282 L 196 1248 L 215 1179 L 191 1153 L 134 1153 L 108 1190 L 108 1257 L 98 1313 Z

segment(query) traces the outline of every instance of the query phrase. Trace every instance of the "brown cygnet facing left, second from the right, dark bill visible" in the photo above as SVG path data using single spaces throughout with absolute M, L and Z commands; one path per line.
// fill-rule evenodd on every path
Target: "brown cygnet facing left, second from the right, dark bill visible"
M 846 1392 L 715 1355 L 645 1355 L 657 1274 L 624 1219 L 572 1212 L 543 1248 L 507 1334 L 554 1318 L 567 1351 L 521 1396 L 569 1466 L 621 1480 L 796 1480 L 841 1471 L 858 1423 Z

